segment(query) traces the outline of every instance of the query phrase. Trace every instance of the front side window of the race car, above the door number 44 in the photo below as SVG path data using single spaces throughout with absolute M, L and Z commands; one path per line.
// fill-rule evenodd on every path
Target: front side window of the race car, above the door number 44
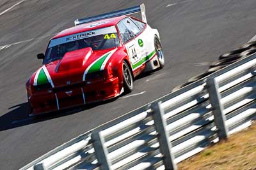
M 140 33 L 139 27 L 129 18 L 124 18 L 124 20 L 117 24 L 117 27 L 124 43 L 136 37 Z

